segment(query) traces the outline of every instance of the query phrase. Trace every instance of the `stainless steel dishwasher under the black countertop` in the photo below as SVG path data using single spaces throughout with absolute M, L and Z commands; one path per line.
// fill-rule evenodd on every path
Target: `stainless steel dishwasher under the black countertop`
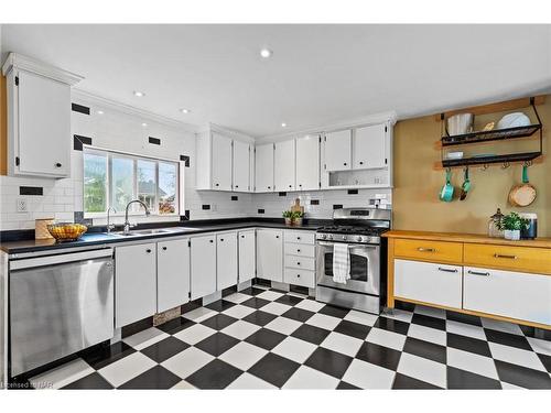
M 9 283 L 11 377 L 112 338 L 111 248 L 11 260 Z

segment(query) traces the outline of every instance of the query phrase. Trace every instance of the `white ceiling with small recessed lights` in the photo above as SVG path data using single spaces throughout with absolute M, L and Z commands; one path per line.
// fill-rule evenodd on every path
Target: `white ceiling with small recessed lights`
M 95 95 L 253 137 L 551 90 L 551 25 L 4 24 L 2 51 L 77 73 Z

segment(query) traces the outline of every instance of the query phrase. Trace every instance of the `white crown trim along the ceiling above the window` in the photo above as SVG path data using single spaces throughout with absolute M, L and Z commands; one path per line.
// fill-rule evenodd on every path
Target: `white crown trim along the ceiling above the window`
M 71 98 L 82 100 L 84 102 L 89 104 L 90 106 L 97 107 L 97 109 L 114 109 L 119 112 L 138 116 L 144 119 L 148 119 L 153 122 L 161 123 L 166 127 L 171 127 L 177 129 L 180 131 L 185 131 L 190 133 L 197 133 L 199 127 L 192 123 L 181 122 L 176 119 L 168 118 L 162 115 L 153 113 L 144 109 L 140 109 L 130 105 L 121 104 L 116 100 L 111 100 L 108 98 L 104 98 L 97 95 L 94 95 L 90 91 L 83 90 L 79 88 L 73 88 L 71 90 Z

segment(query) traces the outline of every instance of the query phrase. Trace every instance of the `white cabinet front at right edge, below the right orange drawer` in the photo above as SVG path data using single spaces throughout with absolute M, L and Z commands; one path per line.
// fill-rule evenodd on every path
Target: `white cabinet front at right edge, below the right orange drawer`
M 551 276 L 465 267 L 463 307 L 551 325 Z

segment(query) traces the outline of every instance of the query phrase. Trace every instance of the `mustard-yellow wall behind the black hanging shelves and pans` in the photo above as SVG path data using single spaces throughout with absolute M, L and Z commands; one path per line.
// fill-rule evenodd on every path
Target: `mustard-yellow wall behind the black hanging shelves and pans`
M 544 105 L 538 106 L 543 123 L 544 161 L 528 169 L 530 183 L 536 186 L 538 197 L 526 208 L 512 208 L 507 202 L 510 187 L 520 182 L 520 164 L 512 164 L 506 170 L 494 165 L 486 171 L 482 171 L 480 166 L 473 166 L 469 170 L 472 192 L 467 198 L 463 202 L 440 202 L 439 191 L 445 182 L 445 172 L 434 170 L 434 163 L 441 159 L 440 149 L 435 146 L 441 137 L 441 123 L 434 120 L 434 116 L 399 121 L 395 128 L 395 228 L 486 233 L 489 216 L 500 207 L 504 213 L 517 210 L 538 214 L 538 236 L 551 237 L 551 96 L 547 96 L 545 100 Z M 532 121 L 536 120 L 530 108 L 522 111 L 530 115 Z M 482 128 L 487 121 L 499 120 L 501 115 L 478 117 L 475 126 Z M 495 153 L 491 149 L 504 148 L 504 144 L 508 149 L 526 144 L 531 144 L 530 151 L 534 148 L 536 142 L 521 141 L 523 140 L 494 142 L 476 150 Z M 464 151 L 467 150 L 466 146 L 468 145 L 454 148 Z M 457 188 L 462 182 L 462 169 L 454 169 L 452 183 Z

